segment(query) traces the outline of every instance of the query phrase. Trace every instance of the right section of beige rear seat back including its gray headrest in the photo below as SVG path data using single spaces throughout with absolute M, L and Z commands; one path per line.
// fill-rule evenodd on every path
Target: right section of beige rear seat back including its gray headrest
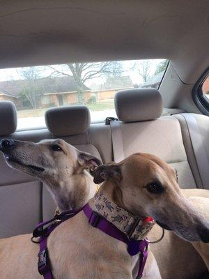
M 111 125 L 113 142 L 119 127 L 124 156 L 136 152 L 153 153 L 177 170 L 182 188 L 196 188 L 178 119 L 174 116 L 160 117 L 160 93 L 156 89 L 119 91 L 115 96 L 115 106 L 119 121 L 116 127 Z M 115 149 L 118 149 L 118 144 Z M 118 151 L 114 150 L 114 153 Z

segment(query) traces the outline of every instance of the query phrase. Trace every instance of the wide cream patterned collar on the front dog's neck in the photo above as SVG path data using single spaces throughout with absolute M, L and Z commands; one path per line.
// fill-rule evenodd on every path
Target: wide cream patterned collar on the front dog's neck
M 111 192 L 112 188 L 101 187 L 89 202 L 91 209 L 120 229 L 130 239 L 145 239 L 155 224 L 153 218 L 141 218 L 123 209 L 113 201 Z

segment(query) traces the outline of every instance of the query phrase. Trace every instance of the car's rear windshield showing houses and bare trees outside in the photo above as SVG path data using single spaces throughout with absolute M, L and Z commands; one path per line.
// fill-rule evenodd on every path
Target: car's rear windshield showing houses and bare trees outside
M 158 88 L 167 60 L 105 61 L 0 70 L 0 100 L 17 107 L 17 130 L 45 128 L 49 107 L 86 105 L 91 122 L 116 117 L 114 95 L 123 89 Z

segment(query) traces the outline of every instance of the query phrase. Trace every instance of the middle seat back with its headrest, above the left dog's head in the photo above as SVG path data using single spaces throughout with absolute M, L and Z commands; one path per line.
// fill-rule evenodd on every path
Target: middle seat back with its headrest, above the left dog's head
M 104 123 L 91 124 L 85 106 L 56 107 L 47 110 L 45 122 L 52 137 L 60 137 L 78 149 L 101 156 L 103 162 L 112 159 L 111 133 Z

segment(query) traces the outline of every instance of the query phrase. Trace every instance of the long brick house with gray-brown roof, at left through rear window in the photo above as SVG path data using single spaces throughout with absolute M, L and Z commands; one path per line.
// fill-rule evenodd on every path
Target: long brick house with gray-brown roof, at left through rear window
M 56 107 L 77 103 L 77 85 L 71 76 L 40 78 L 33 81 L 33 86 L 36 86 L 36 90 L 40 94 L 38 107 Z M 13 101 L 17 110 L 29 108 L 29 101 L 21 97 L 24 89 L 31 89 L 28 80 L 0 82 L 0 100 Z M 84 85 L 84 99 L 88 102 L 89 98 L 91 98 L 91 89 Z

